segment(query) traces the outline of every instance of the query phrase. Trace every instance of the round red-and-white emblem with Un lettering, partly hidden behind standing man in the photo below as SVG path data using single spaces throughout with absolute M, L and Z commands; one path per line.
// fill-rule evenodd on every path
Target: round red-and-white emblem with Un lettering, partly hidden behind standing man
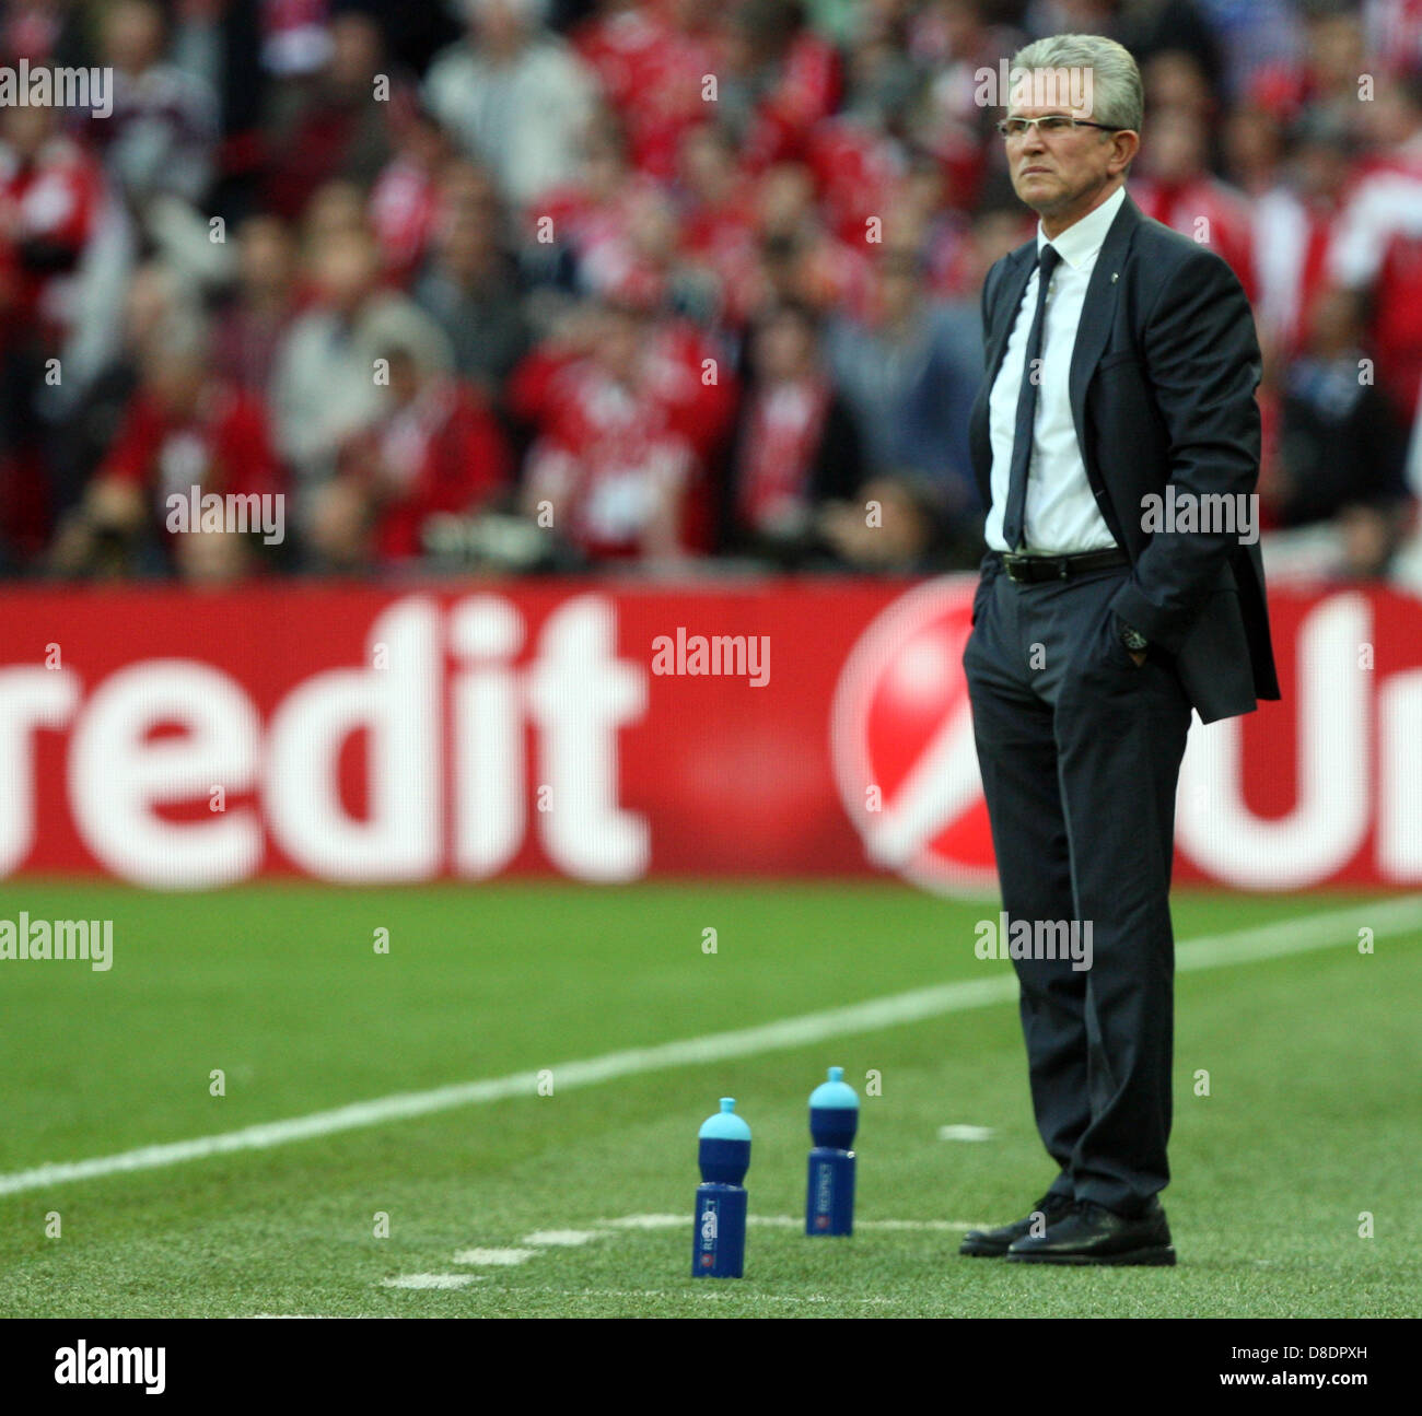
M 830 751 L 870 862 L 946 893 L 995 886 L 963 648 L 974 581 L 919 586 L 845 663 Z M 1386 611 L 1385 614 L 1382 611 Z M 1283 704 L 1190 731 L 1176 850 L 1246 890 L 1348 873 L 1422 881 L 1422 623 L 1415 601 L 1357 591 L 1276 616 Z

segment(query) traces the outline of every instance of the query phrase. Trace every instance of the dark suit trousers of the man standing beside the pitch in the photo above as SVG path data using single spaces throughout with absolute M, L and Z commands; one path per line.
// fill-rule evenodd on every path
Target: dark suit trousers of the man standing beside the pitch
M 1091 926 L 1089 968 L 1012 961 L 1051 1189 L 1135 1216 L 1170 1179 L 1169 894 L 1190 704 L 1169 653 L 1152 645 L 1136 667 L 1116 635 L 1128 576 L 1020 584 L 990 567 L 963 667 L 1008 928 Z

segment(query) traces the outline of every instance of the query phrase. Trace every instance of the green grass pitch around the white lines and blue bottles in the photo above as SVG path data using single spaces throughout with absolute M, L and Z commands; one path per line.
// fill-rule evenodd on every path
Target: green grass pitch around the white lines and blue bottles
M 1347 896 L 1177 891 L 1176 937 L 1352 906 L 1367 926 L 1365 901 Z M 1071 1271 L 956 1253 L 951 1224 L 1015 1217 L 1049 1179 L 1010 1002 L 557 1085 L 570 1061 L 1007 971 L 973 957 L 974 921 L 995 903 L 890 884 L 159 896 L 11 881 L 0 916 L 20 910 L 112 918 L 114 967 L 0 962 L 0 1176 L 542 1068 L 553 1095 L 0 1194 L 6 1315 L 1419 1311 L 1422 930 L 1379 937 L 1372 955 L 1344 934 L 1182 972 L 1165 1194 L 1179 1267 Z M 863 1098 L 860 1230 L 806 1240 L 776 1220 L 802 1214 L 806 1098 L 829 1063 Z M 866 1095 L 869 1072 L 882 1095 Z M 690 1277 L 695 1135 L 722 1095 L 755 1137 L 761 1223 L 739 1282 Z M 991 1136 L 943 1140 L 944 1126 Z M 630 1216 L 680 1223 L 611 1223 Z M 592 1237 L 526 1243 L 547 1231 Z M 518 1255 L 471 1250 L 532 1254 L 492 1264 Z M 459 1287 L 387 1287 L 417 1274 Z

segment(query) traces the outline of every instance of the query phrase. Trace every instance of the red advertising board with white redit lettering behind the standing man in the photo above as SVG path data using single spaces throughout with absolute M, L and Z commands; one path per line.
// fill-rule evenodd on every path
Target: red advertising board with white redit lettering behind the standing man
M 0 876 L 990 891 L 973 584 L 10 587 Z M 1419 608 L 1271 596 L 1285 697 L 1192 728 L 1177 880 L 1422 883 Z

